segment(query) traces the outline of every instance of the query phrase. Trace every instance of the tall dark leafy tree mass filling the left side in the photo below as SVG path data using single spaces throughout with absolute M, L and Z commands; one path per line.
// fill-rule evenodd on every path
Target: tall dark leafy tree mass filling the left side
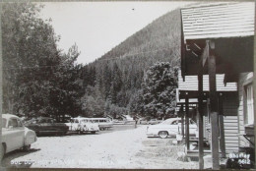
M 41 8 L 2 4 L 3 112 L 59 120 L 79 109 L 77 76 L 82 66 L 75 64 L 76 45 L 67 54 L 57 49 L 59 36 L 50 21 L 37 17 Z

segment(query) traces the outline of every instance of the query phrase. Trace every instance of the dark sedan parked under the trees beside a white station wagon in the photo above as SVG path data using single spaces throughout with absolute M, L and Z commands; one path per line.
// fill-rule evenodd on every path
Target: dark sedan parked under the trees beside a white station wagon
M 57 123 L 49 117 L 33 118 L 25 123 L 25 126 L 39 135 L 66 135 L 69 127 L 64 123 Z

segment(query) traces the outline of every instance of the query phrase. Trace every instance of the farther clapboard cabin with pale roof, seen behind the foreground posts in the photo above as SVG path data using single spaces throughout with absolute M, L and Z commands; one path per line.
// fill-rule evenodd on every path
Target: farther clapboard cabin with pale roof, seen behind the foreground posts
M 237 151 L 238 150 L 238 92 L 237 83 L 227 83 L 224 85 L 224 75 L 216 76 L 217 92 L 223 94 L 223 115 L 224 115 L 224 154 Z M 203 76 L 203 92 L 206 96 L 204 100 L 204 119 L 203 127 L 205 128 L 204 138 L 209 139 L 210 128 L 209 125 L 209 105 L 208 105 L 208 95 L 209 95 L 209 76 Z M 178 75 L 178 88 L 176 89 L 176 105 L 180 108 L 182 105 L 185 106 L 185 99 L 182 98 L 182 93 L 198 91 L 198 80 L 196 76 L 185 76 L 185 81 L 181 77 L 181 72 Z M 189 98 L 189 106 L 194 107 L 197 110 L 198 99 Z

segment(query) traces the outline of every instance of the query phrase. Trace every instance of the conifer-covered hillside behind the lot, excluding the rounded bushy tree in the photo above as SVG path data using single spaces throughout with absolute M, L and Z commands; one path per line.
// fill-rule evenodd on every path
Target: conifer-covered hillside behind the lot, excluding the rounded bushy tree
M 84 114 L 116 116 L 130 113 L 159 116 L 158 111 L 145 112 L 142 84 L 146 72 L 158 62 L 168 62 L 171 69 L 179 66 L 180 22 L 180 11 L 174 10 L 134 33 L 94 63 L 85 66 L 84 86 L 89 86 L 86 92 L 91 91 L 94 86 L 97 94 L 90 95 L 87 92 L 81 101 Z M 169 100 L 173 103 L 174 99 Z M 94 108 L 92 103 L 95 108 L 100 108 L 104 103 L 104 110 L 88 112 L 86 109 L 89 106 Z M 173 107 L 168 111 L 169 114 L 173 113 Z M 163 113 L 160 112 L 161 114 Z

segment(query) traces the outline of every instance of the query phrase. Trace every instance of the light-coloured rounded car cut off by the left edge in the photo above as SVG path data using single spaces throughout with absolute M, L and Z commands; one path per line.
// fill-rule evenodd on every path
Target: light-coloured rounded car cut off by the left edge
M 2 114 L 1 159 L 5 153 L 23 148 L 29 150 L 37 138 L 34 131 L 26 128 L 22 120 L 11 114 Z

